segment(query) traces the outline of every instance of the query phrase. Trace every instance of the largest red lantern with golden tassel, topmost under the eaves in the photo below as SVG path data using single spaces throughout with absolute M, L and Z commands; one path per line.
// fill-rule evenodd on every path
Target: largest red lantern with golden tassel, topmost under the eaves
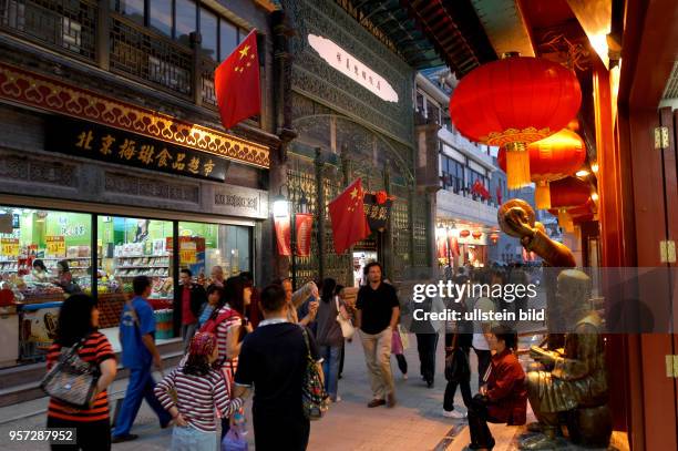
M 540 58 L 507 58 L 466 74 L 450 99 L 450 115 L 471 141 L 506 148 L 510 189 L 530 184 L 526 146 L 564 129 L 579 110 L 575 73 Z

